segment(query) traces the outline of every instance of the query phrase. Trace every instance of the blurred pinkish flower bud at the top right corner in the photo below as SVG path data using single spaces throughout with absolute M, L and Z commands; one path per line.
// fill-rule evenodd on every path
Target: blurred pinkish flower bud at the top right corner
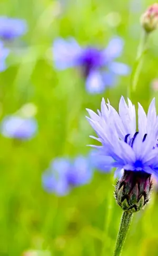
M 158 27 L 158 4 L 153 4 L 147 8 L 141 17 L 141 24 L 146 33 L 156 30 Z

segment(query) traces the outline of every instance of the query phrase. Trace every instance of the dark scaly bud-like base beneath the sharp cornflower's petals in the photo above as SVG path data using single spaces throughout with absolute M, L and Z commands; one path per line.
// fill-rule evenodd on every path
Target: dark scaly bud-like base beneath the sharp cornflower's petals
M 124 211 L 138 212 L 149 201 L 151 187 L 151 174 L 124 170 L 115 187 L 116 201 Z

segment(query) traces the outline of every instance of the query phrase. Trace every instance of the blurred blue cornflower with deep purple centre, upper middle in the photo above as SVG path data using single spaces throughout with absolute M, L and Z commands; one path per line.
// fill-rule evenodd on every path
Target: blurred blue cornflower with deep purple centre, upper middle
M 86 79 L 86 90 L 101 93 L 114 85 L 116 75 L 126 75 L 130 71 L 126 64 L 114 61 L 122 49 L 120 37 L 113 38 L 103 50 L 92 46 L 82 48 L 72 37 L 68 40 L 57 38 L 53 43 L 53 58 L 59 70 L 80 67 Z

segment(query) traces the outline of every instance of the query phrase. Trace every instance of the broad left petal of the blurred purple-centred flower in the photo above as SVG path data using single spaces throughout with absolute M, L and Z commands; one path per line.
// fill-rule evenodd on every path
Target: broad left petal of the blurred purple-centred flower
M 78 58 L 82 52 L 75 39 L 64 40 L 61 37 L 55 39 L 52 50 L 55 67 L 60 70 L 78 65 Z

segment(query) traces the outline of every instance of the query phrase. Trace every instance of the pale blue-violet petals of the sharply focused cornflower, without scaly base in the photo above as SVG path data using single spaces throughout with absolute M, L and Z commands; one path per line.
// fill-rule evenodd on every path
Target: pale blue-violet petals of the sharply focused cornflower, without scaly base
M 98 115 L 87 109 L 91 118 L 87 118 L 102 146 L 98 148 L 102 155 L 112 157 L 111 167 L 132 172 L 146 172 L 158 176 L 158 119 L 155 110 L 155 99 L 152 100 L 146 113 L 139 103 L 138 131 L 136 130 L 135 107 L 123 97 L 119 104 L 119 112 L 102 100 L 101 112 Z

